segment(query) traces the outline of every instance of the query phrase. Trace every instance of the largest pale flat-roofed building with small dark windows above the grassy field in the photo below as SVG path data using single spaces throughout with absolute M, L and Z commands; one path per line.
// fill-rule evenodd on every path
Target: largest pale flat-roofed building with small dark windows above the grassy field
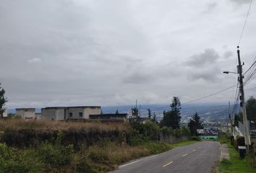
M 101 113 L 99 106 L 46 107 L 41 109 L 41 118 L 45 120 L 83 120 L 89 115 Z

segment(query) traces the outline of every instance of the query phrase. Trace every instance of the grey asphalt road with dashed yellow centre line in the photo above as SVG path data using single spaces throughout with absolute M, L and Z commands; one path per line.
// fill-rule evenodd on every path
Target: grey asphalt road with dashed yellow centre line
M 121 165 L 111 173 L 210 173 L 219 160 L 220 147 L 220 143 L 213 141 L 182 146 Z

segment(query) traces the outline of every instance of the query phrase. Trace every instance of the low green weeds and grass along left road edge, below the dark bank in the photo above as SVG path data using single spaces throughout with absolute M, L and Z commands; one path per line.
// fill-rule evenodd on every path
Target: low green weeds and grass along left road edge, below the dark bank
M 108 172 L 126 161 L 195 142 L 167 144 L 147 141 L 138 146 L 108 142 L 104 146 L 84 146 L 79 151 L 59 143 L 42 143 L 37 148 L 22 149 L 1 143 L 0 172 Z

